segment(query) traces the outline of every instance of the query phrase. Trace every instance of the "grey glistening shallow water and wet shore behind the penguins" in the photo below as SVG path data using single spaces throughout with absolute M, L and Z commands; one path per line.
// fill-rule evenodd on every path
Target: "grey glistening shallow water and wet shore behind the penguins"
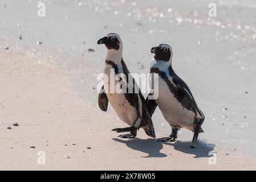
M 118 33 L 132 73 L 149 71 L 151 47 L 170 44 L 173 68 L 206 116 L 200 139 L 227 151 L 255 155 L 254 1 L 42 2 L 46 3 L 44 18 L 37 15 L 38 1 L 0 1 L 1 48 L 23 47 L 34 54 L 35 61 L 67 72 L 74 92 L 97 107 L 92 88 L 97 86 L 106 52 L 96 45 L 97 39 L 108 32 Z M 217 5 L 216 17 L 208 15 L 212 2 Z M 159 110 L 153 121 L 163 137 L 170 133 Z M 186 130 L 178 134 L 179 140 L 192 137 Z

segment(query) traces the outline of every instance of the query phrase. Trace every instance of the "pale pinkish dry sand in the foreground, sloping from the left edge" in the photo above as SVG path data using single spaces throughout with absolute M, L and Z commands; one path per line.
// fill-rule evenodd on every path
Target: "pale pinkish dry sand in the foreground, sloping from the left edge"
M 136 139 L 117 138 L 111 129 L 123 126 L 119 119 L 88 107 L 65 73 L 24 52 L 0 50 L 0 169 L 256 169 L 254 158 L 220 150 L 209 164 L 214 149 L 203 142 L 196 148 L 160 143 L 141 130 Z M 45 165 L 38 164 L 38 151 L 45 152 Z

